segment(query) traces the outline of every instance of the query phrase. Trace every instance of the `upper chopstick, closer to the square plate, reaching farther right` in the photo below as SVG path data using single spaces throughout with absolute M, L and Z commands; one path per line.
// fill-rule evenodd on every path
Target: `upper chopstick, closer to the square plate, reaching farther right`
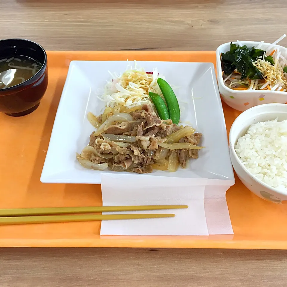
M 187 205 L 135 205 L 135 206 L 97 206 L 97 207 L 48 207 L 48 208 L 15 208 L 0 209 L 0 216 L 32 216 L 68 213 L 92 213 L 112 211 L 143 211 L 162 209 L 181 209 Z

